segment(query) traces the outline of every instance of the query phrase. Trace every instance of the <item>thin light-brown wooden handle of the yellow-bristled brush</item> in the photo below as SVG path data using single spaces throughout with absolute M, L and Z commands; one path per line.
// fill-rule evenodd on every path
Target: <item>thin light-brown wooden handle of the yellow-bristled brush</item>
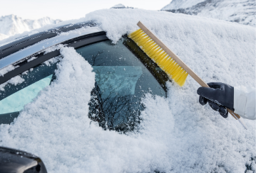
M 140 21 L 137 23 L 137 25 L 156 43 L 160 46 L 160 48 L 162 48 L 170 57 L 173 58 L 173 60 L 175 60 L 175 62 L 178 63 L 178 65 L 180 65 L 180 67 L 182 67 L 186 72 L 188 72 L 188 74 L 190 74 L 191 77 L 193 77 L 193 79 L 195 79 L 196 82 L 198 82 L 198 84 L 200 84 L 201 86 L 204 87 L 210 87 L 208 86 L 208 84 L 206 84 L 203 79 L 201 79 L 200 77 L 198 77 L 197 74 L 195 74 L 195 72 L 193 72 L 192 69 L 190 69 L 190 67 L 188 67 L 188 65 L 186 65 L 182 60 L 180 60 L 180 58 L 175 55 L 174 52 L 172 52 L 159 38 L 157 38 L 147 27 L 145 27 L 143 25 L 143 23 L 141 23 Z M 231 111 L 229 108 L 227 108 L 227 111 L 235 118 L 235 116 L 237 116 L 237 118 L 239 119 L 240 116 L 237 115 L 236 113 L 234 113 L 233 111 Z M 235 116 L 234 116 L 234 114 Z M 235 118 L 235 119 L 237 119 Z

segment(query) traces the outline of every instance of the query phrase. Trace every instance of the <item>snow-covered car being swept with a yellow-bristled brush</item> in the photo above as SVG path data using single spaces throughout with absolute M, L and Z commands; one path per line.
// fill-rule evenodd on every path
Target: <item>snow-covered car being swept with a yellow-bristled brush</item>
M 205 82 L 255 86 L 252 26 L 166 11 L 93 11 L 0 40 L 6 52 L 16 49 L 0 59 L 11 57 L 0 62 L 1 93 L 35 88 L 7 112 L 19 115 L 0 124 L 0 145 L 39 156 L 48 172 L 255 172 L 255 122 L 245 120 L 244 130 L 198 104 L 190 76 L 183 87 L 169 82 L 127 38 L 138 21 Z M 65 23 L 73 25 L 50 29 Z

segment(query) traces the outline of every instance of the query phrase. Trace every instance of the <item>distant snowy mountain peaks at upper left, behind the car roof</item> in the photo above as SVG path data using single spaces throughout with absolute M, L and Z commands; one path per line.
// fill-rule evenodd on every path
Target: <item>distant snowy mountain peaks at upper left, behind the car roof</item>
M 9 16 L 0 17 L 0 33 L 11 36 L 17 33 L 24 33 L 25 31 L 34 30 L 48 24 L 56 24 L 59 22 L 61 22 L 61 20 L 53 20 L 48 17 L 40 18 L 38 20 L 24 20 L 18 16 L 11 14 Z M 3 37 L 0 37 L 0 40 L 1 38 Z

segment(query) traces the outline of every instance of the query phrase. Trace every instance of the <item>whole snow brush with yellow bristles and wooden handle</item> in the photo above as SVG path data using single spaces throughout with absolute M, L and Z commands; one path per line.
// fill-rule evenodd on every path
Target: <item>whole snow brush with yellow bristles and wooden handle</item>
M 190 67 L 180 60 L 159 38 L 157 38 L 147 27 L 140 21 L 137 23 L 140 29 L 135 30 L 128 35 L 128 38 L 132 39 L 141 50 L 145 52 L 151 60 L 153 60 L 162 69 L 168 77 L 176 82 L 179 86 L 185 84 L 185 80 L 190 74 L 198 84 L 203 87 L 210 87 Z M 229 108 L 227 111 L 238 120 L 242 126 L 247 129 L 244 121 L 237 113 L 234 113 Z

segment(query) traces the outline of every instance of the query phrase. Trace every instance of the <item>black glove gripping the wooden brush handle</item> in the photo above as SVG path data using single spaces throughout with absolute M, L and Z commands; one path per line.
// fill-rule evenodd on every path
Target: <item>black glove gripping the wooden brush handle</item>
M 234 87 L 221 82 L 208 83 L 208 87 L 198 88 L 199 103 L 208 104 L 213 110 L 218 111 L 221 116 L 227 118 L 227 108 L 234 111 Z

